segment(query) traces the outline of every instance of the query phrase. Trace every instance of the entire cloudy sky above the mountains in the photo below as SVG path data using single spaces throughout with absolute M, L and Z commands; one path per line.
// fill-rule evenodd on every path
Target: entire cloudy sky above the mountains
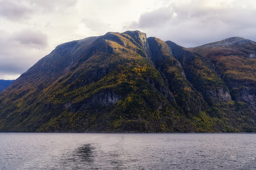
M 255 0 L 0 0 L 0 79 L 16 79 L 57 45 L 140 30 L 184 47 L 256 41 Z

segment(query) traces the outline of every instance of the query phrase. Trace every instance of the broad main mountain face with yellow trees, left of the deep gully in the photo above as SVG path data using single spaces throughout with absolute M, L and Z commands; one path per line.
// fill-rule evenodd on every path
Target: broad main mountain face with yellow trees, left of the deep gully
M 183 131 L 149 55 L 139 31 L 58 46 L 1 95 L 1 131 Z

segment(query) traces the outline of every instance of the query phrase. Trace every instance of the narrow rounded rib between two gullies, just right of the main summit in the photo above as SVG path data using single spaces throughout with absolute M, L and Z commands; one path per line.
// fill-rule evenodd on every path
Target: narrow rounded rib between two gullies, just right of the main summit
M 182 112 L 187 115 L 198 115 L 209 107 L 202 95 L 186 79 L 180 62 L 173 57 L 168 45 L 155 37 L 149 37 L 148 43 L 152 51 L 151 59 L 156 69 L 167 79 L 169 89 Z

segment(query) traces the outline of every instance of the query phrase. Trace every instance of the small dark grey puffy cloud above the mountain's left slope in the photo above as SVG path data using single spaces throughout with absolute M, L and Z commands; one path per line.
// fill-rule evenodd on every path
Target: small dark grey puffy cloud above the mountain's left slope
M 22 30 L 12 35 L 11 40 L 18 41 L 21 45 L 31 48 L 46 48 L 48 46 L 47 35 L 41 31 Z

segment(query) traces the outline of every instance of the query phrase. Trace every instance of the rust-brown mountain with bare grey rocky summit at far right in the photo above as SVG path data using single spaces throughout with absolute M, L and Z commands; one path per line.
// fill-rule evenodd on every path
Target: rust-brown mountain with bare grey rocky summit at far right
M 226 83 L 232 100 L 248 105 L 256 118 L 256 42 L 231 37 L 191 48 L 209 58 Z

